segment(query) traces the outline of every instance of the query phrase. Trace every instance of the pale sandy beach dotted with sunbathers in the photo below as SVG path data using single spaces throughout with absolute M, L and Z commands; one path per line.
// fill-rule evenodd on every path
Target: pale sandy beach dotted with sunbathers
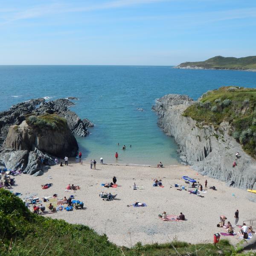
M 102 187 L 101 183 L 112 181 L 113 175 L 117 178 L 118 187 Z M 200 193 L 204 198 L 189 194 L 186 190 L 179 191 L 175 183 L 186 188 L 188 186 L 181 178 L 183 175 L 195 178 L 203 186 L 207 179 L 208 187 L 215 186 L 217 191 L 206 189 L 206 193 Z M 162 179 L 164 187 L 153 187 L 153 177 Z M 234 224 L 236 209 L 239 209 L 239 224 L 256 217 L 256 203 L 248 199 L 254 194 L 198 175 L 189 166 L 165 166 L 159 169 L 97 164 L 94 170 L 87 163 L 80 165 L 70 162 L 69 166 L 52 166 L 40 177 L 22 174 L 16 176 L 15 180 L 17 185 L 11 190 L 21 192 L 22 199 L 33 194 L 39 198 L 55 193 L 58 198 L 74 195 L 75 199 L 84 202 L 86 208 L 44 216 L 87 225 L 99 234 L 106 233 L 109 240 L 119 246 L 130 247 L 139 241 L 143 244 L 164 243 L 174 238 L 191 243 L 212 242 L 214 233 L 225 232 L 224 228 L 216 227 L 220 215 L 226 215 L 231 224 Z M 144 189 L 133 190 L 131 186 L 134 181 L 137 185 L 143 185 Z M 53 183 L 53 186 L 41 189 L 40 185 L 45 183 Z M 65 192 L 68 183 L 79 185 L 81 189 Z M 116 200 L 103 201 L 99 197 L 101 191 L 117 194 Z M 127 207 L 136 201 L 146 203 L 147 207 Z M 162 221 L 158 214 L 163 211 L 174 215 L 183 212 L 186 221 Z M 239 227 L 234 227 L 234 230 L 238 232 Z M 240 240 L 238 236 L 225 238 L 233 244 Z

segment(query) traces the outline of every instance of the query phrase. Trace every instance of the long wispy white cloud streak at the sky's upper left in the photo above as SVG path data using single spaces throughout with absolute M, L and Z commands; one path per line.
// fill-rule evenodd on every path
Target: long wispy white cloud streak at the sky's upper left
M 34 6 L 28 9 L 13 10 L 6 9 L 2 12 L 9 12 L 8 15 L 1 17 L 4 22 L 2 24 L 11 23 L 17 20 L 31 19 L 43 17 L 52 14 L 70 13 L 70 12 L 93 12 L 104 9 L 117 9 L 130 6 L 145 5 L 158 2 L 167 2 L 170 0 L 116 0 L 105 3 L 98 3 L 89 6 L 73 6 L 71 4 L 53 3 L 44 6 Z M 1 11 L 0 11 L 1 12 Z

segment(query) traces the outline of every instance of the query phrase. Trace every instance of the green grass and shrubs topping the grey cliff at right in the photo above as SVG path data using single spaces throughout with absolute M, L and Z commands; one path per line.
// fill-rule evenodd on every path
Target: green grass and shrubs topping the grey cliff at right
M 229 122 L 230 135 L 256 158 L 256 89 L 221 87 L 209 91 L 183 115 L 216 129 L 221 122 Z

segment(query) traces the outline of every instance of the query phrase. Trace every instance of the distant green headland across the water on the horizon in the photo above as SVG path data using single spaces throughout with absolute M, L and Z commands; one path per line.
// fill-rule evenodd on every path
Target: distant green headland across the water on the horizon
M 239 70 L 256 70 L 256 56 L 244 58 L 216 56 L 206 61 L 184 62 L 178 67 L 201 67 L 205 69 L 239 69 Z

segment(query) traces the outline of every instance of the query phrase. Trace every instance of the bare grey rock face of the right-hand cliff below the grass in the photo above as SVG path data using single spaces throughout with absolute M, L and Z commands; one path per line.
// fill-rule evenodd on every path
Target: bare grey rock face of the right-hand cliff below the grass
M 243 189 L 256 189 L 256 161 L 228 135 L 228 123 L 221 123 L 215 131 L 213 126 L 202 126 L 190 117 L 182 116 L 192 104 L 194 101 L 188 96 L 169 94 L 158 99 L 152 108 L 159 116 L 160 128 L 180 145 L 182 162 L 201 174 L 226 182 L 233 180 L 235 186 Z M 233 168 L 236 152 L 241 157 Z

